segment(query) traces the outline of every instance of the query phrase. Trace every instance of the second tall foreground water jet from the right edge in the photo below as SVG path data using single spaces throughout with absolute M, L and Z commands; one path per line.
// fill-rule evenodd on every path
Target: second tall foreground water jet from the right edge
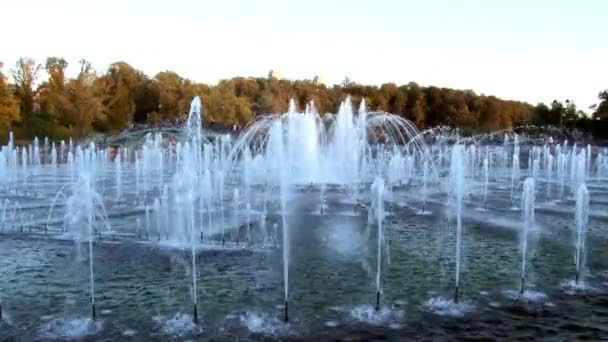
M 524 181 L 521 198 L 522 230 L 521 230 L 521 273 L 519 293 L 523 294 L 526 285 L 526 267 L 528 259 L 528 239 L 534 228 L 534 178 L 528 177 Z

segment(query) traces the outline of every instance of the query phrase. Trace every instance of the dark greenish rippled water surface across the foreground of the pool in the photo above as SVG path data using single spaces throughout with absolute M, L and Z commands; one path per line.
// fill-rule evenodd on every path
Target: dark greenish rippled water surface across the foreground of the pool
M 389 257 L 383 265 L 382 308 L 375 303 L 375 226 L 366 211 L 340 189 L 327 192 L 319 215 L 316 192 L 294 195 L 291 227 L 290 324 L 281 321 L 280 247 L 218 246 L 197 253 L 199 312 L 191 323 L 191 254 L 155 241 L 104 238 L 95 242 L 98 320 L 88 304 L 85 245 L 39 230 L 0 235 L 0 295 L 5 319 L 0 338 L 179 339 L 199 336 L 261 338 L 345 338 L 396 336 L 412 339 L 468 334 L 495 338 L 534 336 L 558 339 L 608 336 L 608 192 L 591 189 L 588 288 L 569 290 L 574 278 L 573 202 L 537 204 L 543 234 L 531 263 L 529 291 L 519 286 L 519 211 L 509 207 L 509 191 L 492 188 L 488 210 L 467 202 L 464 213 L 464 305 L 453 295 L 454 227 L 446 222 L 445 199 L 431 196 L 427 210 L 407 191 L 395 191 L 388 205 Z M 43 215 L 48 208 L 32 212 Z M 504 208 L 504 209 L 501 209 Z M 133 214 L 125 205 L 113 226 L 128 231 Z M 47 211 L 48 213 L 48 211 Z M 141 213 L 139 213 L 141 214 Z M 268 226 L 279 221 L 269 215 Z M 122 227 L 122 228 L 121 228 Z M 532 292 L 530 292 L 532 293 Z M 534 298 L 546 296 L 538 301 Z M 534 298 L 532 298 L 534 297 Z M 585 317 L 591 317 L 585 320 Z M 542 327 L 538 327 L 540 325 Z M 505 336 L 499 336 L 506 334 Z M 467 335 L 467 336 L 468 336 Z

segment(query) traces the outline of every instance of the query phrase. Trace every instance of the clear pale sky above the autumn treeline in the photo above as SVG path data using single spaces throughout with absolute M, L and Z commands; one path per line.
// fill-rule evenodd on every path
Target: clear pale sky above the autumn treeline
M 5 72 L 19 56 L 76 70 L 125 61 L 215 83 L 321 75 L 418 82 L 588 110 L 608 88 L 606 0 L 6 0 Z

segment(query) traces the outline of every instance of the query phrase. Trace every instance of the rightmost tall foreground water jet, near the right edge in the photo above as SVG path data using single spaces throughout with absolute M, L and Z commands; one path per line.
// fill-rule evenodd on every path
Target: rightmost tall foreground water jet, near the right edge
M 576 279 L 575 282 L 578 285 L 579 281 L 584 281 L 584 269 L 585 269 L 585 250 L 586 250 L 586 234 L 587 234 L 587 223 L 589 222 L 589 191 L 587 186 L 583 183 L 579 185 L 576 191 Z

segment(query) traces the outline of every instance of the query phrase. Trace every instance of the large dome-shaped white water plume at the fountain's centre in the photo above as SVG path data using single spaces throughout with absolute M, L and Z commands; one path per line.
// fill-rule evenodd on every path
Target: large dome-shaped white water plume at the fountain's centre
M 393 164 L 399 164 L 406 152 L 408 165 L 414 165 L 416 158 L 426 160 L 431 174 L 437 176 L 426 143 L 410 121 L 383 112 L 368 113 L 365 101 L 355 114 L 350 98 L 335 115 L 321 118 L 313 108 L 309 105 L 300 113 L 292 101 L 285 114 L 259 117 L 240 134 L 225 171 L 242 165 L 238 172 L 249 174 L 251 184 L 268 184 L 279 179 L 280 166 L 287 170 L 290 184 L 345 185 L 356 197 L 359 185 L 371 183 L 392 158 L 396 159 Z M 276 144 L 283 145 L 282 159 L 271 153 Z M 243 158 L 248 154 L 251 158 Z M 412 169 L 392 181 L 411 178 Z

